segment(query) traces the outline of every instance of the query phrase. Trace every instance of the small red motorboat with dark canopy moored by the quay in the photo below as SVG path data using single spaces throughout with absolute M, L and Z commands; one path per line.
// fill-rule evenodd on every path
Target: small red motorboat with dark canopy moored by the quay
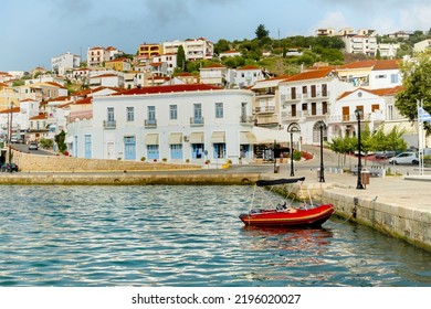
M 273 205 L 271 209 L 252 209 L 249 213 L 240 214 L 241 221 L 245 225 L 253 226 L 284 226 L 284 227 L 307 227 L 307 226 L 320 226 L 325 223 L 334 213 L 334 205 L 322 204 L 315 205 L 311 200 L 311 203 L 304 203 L 301 206 L 287 205 L 287 198 L 284 203 L 278 203 L 274 206 L 269 196 L 274 185 L 292 184 L 295 182 L 303 182 L 305 178 L 296 179 L 276 179 L 276 180 L 259 180 L 255 183 L 255 190 L 253 193 L 252 205 L 256 196 L 256 188 L 261 189 L 261 192 L 266 196 L 270 203 Z M 301 184 L 299 183 L 299 184 Z M 270 187 L 270 192 L 264 192 L 263 188 Z M 308 194 L 308 196 L 311 196 Z

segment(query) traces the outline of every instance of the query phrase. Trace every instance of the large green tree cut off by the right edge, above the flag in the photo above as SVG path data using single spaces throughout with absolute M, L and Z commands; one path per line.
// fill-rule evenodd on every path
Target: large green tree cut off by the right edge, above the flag
M 403 88 L 396 95 L 395 106 L 410 121 L 418 118 L 417 105 L 423 103 L 423 108 L 431 111 L 431 52 L 418 55 L 417 61 L 403 62 L 401 65 Z M 427 135 L 431 126 L 425 122 Z

